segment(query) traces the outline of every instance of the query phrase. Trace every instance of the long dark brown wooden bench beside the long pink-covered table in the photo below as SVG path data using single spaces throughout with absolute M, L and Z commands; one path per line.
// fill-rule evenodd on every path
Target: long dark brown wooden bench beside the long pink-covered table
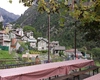
M 77 78 L 78 80 L 80 80 L 80 75 L 85 74 L 86 72 L 90 72 L 90 71 L 93 71 L 93 75 L 94 75 L 95 71 L 97 73 L 99 72 L 99 68 L 100 67 L 98 67 L 98 66 L 92 66 L 92 67 L 89 67 L 88 69 L 81 70 L 78 72 L 73 72 L 69 75 L 58 76 L 58 77 L 50 79 L 50 80 L 68 80 L 69 78 L 73 78 L 73 80 L 75 80 Z

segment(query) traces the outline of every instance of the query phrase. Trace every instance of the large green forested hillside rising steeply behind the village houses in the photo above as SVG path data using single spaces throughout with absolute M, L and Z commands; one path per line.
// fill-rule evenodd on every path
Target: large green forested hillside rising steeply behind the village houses
M 66 48 L 74 48 L 74 20 L 67 16 L 65 25 L 60 26 L 59 14 L 51 14 L 50 18 L 51 41 L 58 40 L 60 42 L 60 45 L 66 46 Z M 22 27 L 24 27 L 25 25 L 30 25 L 34 27 L 37 32 L 40 32 L 43 37 L 48 36 L 48 16 L 46 13 L 40 14 L 37 11 L 37 7 L 35 6 L 32 6 L 28 10 L 26 10 L 25 13 L 21 15 L 21 17 L 17 20 L 16 24 L 19 24 Z M 91 49 L 95 46 L 99 46 L 98 42 L 86 41 L 84 38 L 84 32 L 81 32 L 78 28 L 76 29 L 76 38 L 77 48 L 86 46 L 88 49 Z

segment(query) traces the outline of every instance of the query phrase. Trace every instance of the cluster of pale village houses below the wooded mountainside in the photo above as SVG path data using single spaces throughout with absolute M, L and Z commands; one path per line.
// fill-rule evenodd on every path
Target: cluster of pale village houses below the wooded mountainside
M 1 22 L 3 22 L 3 17 L 0 17 Z M 6 23 L 5 27 L 3 26 L 3 30 L 0 31 L 0 49 L 8 50 L 9 53 L 11 51 L 19 50 L 21 47 L 20 42 L 29 43 L 30 47 L 36 49 L 38 51 L 47 51 L 48 50 L 48 39 L 43 37 L 38 37 L 37 39 L 34 37 L 34 32 L 27 31 L 24 32 L 23 28 L 13 29 L 13 25 L 10 23 Z M 22 50 L 24 50 L 22 48 Z M 64 54 L 73 54 L 74 49 L 66 50 L 65 46 L 60 46 L 59 41 L 50 42 L 50 53 L 59 54 L 59 52 L 63 52 Z M 26 53 L 29 53 L 26 51 Z M 82 56 L 81 52 L 77 50 L 77 54 Z M 70 54 L 69 54 L 70 55 Z M 26 55 L 24 55 L 25 57 Z

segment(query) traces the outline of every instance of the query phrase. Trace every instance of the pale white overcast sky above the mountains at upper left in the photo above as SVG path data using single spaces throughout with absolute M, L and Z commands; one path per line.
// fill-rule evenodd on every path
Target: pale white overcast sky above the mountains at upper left
M 27 9 L 22 3 L 19 3 L 19 0 L 13 0 L 12 4 L 9 3 L 9 0 L 0 0 L 0 7 L 17 15 L 21 15 Z

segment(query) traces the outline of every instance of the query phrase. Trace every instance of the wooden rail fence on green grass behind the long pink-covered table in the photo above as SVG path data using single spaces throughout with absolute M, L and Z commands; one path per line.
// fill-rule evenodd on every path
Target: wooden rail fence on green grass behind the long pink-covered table
M 18 59 L 0 59 L 0 69 L 16 68 L 22 66 L 34 65 L 34 62 L 23 62 Z

